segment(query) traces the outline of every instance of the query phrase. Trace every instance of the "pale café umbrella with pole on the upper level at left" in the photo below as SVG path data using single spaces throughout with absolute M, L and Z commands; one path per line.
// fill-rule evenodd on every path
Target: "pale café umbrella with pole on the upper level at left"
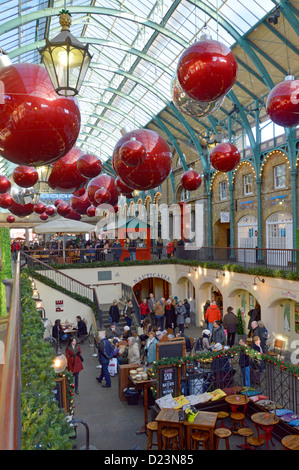
M 95 232 L 96 227 L 80 220 L 68 220 L 63 217 L 57 220 L 51 220 L 44 224 L 36 225 L 33 231 L 37 234 L 62 233 L 63 234 L 63 262 L 65 262 L 65 237 L 66 233 L 90 233 Z

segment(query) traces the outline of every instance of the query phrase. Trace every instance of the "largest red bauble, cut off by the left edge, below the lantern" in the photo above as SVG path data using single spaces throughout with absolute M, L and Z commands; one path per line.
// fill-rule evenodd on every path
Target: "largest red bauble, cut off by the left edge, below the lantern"
M 59 96 L 42 65 L 3 67 L 1 156 L 17 165 L 53 163 L 74 146 L 81 117 L 76 98 Z

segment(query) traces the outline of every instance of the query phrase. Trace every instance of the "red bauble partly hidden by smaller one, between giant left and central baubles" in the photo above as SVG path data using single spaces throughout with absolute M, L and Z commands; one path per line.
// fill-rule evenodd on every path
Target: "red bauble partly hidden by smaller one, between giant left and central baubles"
M 73 193 L 82 188 L 87 179 L 79 173 L 77 161 L 83 155 L 82 150 L 73 147 L 64 157 L 53 163 L 48 185 L 54 191 Z

